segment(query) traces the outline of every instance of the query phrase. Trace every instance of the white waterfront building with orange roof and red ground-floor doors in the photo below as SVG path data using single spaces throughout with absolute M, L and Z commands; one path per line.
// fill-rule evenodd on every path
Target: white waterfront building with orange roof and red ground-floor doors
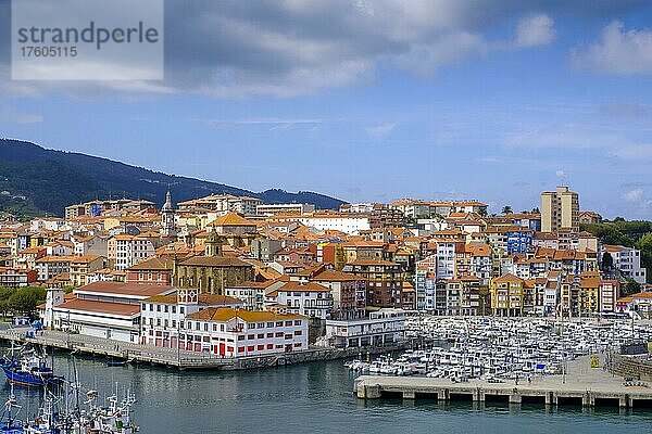
M 181 349 L 250 357 L 308 349 L 308 318 L 293 314 L 209 307 L 186 319 Z

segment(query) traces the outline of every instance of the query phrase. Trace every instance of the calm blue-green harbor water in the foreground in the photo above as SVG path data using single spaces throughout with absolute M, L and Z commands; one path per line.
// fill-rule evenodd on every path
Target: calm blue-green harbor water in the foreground
M 471 403 L 438 405 L 401 399 L 359 401 L 341 361 L 241 372 L 177 372 L 150 367 L 109 368 L 77 359 L 83 383 L 110 394 L 117 382 L 138 398 L 141 433 L 652 433 L 652 411 L 546 410 L 543 406 Z M 70 360 L 55 358 L 67 372 Z M 9 386 L 3 386 L 7 396 Z M 39 394 L 16 388 L 20 416 L 37 409 Z

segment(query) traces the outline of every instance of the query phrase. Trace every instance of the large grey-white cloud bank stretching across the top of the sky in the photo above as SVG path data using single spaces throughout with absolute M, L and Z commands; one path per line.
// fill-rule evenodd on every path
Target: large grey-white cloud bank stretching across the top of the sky
M 30 87 L 35 92 L 54 90 L 82 98 L 115 98 L 116 90 L 217 98 L 293 97 L 373 81 L 378 65 L 432 76 L 442 66 L 491 51 L 549 43 L 554 38 L 552 20 L 544 14 L 532 16 L 532 5 L 526 3 L 195 0 L 189 8 L 171 1 L 165 4 L 165 15 L 175 18 L 165 26 L 165 80 L 9 86 L 21 86 L 23 93 Z M 516 46 L 512 38 L 487 39 L 487 33 L 519 16 L 527 17 L 518 25 Z M 0 87 L 10 81 L 3 77 L 1 74 Z

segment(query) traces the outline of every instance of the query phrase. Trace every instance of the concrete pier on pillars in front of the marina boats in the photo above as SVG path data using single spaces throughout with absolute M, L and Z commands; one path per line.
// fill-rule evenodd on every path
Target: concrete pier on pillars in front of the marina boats
M 529 381 L 469 380 L 453 383 L 448 379 L 426 376 L 362 375 L 355 379 L 353 393 L 360 399 L 400 396 L 439 401 L 469 400 L 509 404 L 575 405 L 584 407 L 637 408 L 652 406 L 652 388 L 645 383 L 628 383 L 601 368 L 590 368 L 581 357 L 568 362 L 566 375 L 536 376 Z

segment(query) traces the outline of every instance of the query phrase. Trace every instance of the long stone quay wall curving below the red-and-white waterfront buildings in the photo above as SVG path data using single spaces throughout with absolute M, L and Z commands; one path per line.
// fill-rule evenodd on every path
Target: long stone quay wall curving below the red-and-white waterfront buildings
M 361 355 L 376 355 L 408 348 L 410 342 L 400 342 L 383 347 L 321 348 L 311 347 L 302 352 L 251 357 L 220 357 L 212 354 L 188 352 L 176 348 L 162 348 L 117 342 L 84 334 L 72 334 L 57 330 L 43 330 L 33 337 L 27 336 L 27 328 L 0 330 L 0 341 L 29 343 L 45 347 L 104 356 L 113 360 L 130 363 L 176 368 L 179 370 L 244 370 L 285 365 L 296 365 L 319 360 L 334 360 Z

